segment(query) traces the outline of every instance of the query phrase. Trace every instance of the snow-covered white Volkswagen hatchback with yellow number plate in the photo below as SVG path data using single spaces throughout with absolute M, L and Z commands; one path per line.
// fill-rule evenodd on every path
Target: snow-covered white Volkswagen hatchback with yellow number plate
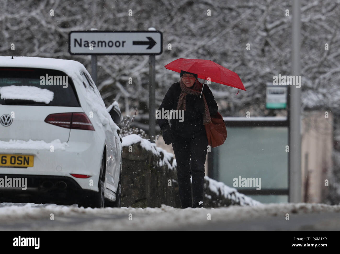
M 120 207 L 113 119 L 81 63 L 0 56 L 0 202 Z

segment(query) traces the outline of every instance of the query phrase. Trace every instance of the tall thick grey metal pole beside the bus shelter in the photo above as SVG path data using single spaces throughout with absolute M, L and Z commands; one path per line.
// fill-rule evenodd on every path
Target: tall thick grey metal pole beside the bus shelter
M 300 0 L 292 0 L 292 75 L 300 76 Z M 289 202 L 301 202 L 301 87 L 290 84 L 290 133 L 289 133 Z

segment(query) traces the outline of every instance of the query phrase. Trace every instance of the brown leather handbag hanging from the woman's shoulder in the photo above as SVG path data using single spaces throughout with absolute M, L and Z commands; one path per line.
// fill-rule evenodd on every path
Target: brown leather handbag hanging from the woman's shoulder
M 209 146 L 214 148 L 224 144 L 227 138 L 227 128 L 220 113 L 217 112 L 215 116 L 211 117 L 211 123 L 205 124 L 204 127 Z

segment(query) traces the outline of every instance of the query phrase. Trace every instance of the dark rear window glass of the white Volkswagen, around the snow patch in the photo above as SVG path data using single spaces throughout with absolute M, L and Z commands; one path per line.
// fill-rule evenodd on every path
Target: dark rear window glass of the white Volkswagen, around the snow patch
M 0 67 L 0 89 L 2 87 L 13 85 L 34 86 L 40 89 L 48 89 L 53 92 L 53 100 L 47 104 L 46 102 L 36 102 L 34 100 L 28 100 L 25 98 L 8 99 L 1 98 L 0 96 L 1 105 L 80 107 L 79 99 L 73 82 L 71 78 L 62 71 L 37 68 Z

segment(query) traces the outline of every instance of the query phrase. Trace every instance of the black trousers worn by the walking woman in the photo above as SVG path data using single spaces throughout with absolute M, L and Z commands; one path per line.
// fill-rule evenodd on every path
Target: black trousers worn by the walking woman
M 207 146 L 208 139 L 205 132 L 194 138 L 182 138 L 174 135 L 172 148 L 177 163 L 177 180 L 182 208 L 192 207 L 190 174 L 193 203 L 203 201 L 204 163 Z

